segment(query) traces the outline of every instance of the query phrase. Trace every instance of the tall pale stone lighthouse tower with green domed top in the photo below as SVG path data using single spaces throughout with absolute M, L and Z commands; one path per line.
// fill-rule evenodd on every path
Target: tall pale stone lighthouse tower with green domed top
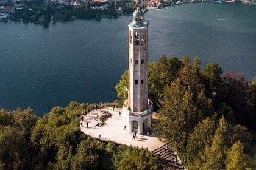
M 140 9 L 129 21 L 129 89 L 123 106 L 127 132 L 143 134 L 151 126 L 152 102 L 148 100 L 148 25 Z

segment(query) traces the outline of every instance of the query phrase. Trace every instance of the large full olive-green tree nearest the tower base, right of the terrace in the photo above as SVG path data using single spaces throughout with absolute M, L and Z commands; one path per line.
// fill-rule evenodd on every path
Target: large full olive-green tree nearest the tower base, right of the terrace
M 197 123 L 192 93 L 186 91 L 177 78 L 171 86 L 165 87 L 164 94 L 158 114 L 160 123 L 157 126 L 162 130 L 162 137 L 172 143 L 176 151 L 184 154 L 188 135 Z

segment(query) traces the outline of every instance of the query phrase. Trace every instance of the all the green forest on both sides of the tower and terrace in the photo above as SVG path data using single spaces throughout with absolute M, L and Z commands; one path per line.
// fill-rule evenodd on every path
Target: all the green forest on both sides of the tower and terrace
M 201 70 L 185 56 L 148 64 L 153 131 L 166 138 L 189 169 L 255 169 L 256 78 L 216 63 Z M 127 70 L 115 89 L 127 98 Z M 117 101 L 116 101 L 117 102 Z M 0 110 L 0 169 L 162 169 L 145 149 L 88 137 L 80 115 L 94 104 L 71 102 L 44 117 L 31 108 Z

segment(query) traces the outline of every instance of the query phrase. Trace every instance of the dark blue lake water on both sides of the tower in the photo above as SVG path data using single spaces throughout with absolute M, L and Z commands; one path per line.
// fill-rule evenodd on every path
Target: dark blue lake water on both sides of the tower
M 160 56 L 199 56 L 227 72 L 256 76 L 256 7 L 244 4 L 183 4 L 149 10 L 149 61 Z M 74 20 L 48 28 L 0 22 L 0 108 L 52 107 L 113 101 L 128 68 L 128 21 Z

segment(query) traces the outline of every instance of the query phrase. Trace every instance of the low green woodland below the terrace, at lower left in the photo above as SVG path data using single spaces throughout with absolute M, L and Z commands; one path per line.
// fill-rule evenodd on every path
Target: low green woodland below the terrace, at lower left
M 162 169 L 145 149 L 90 138 L 79 117 L 88 104 L 71 102 L 42 118 L 32 109 L 0 110 L 0 169 Z

